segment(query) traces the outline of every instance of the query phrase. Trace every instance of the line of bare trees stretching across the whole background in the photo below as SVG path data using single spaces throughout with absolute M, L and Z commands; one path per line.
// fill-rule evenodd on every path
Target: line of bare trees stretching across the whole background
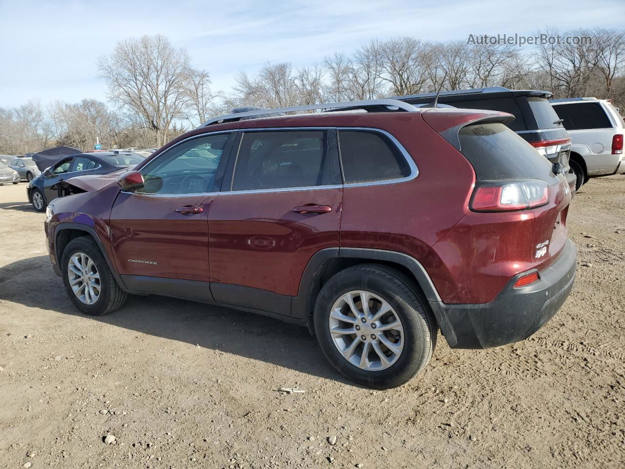
M 279 108 L 437 89 L 546 89 L 555 98 L 595 96 L 625 106 L 625 31 L 542 33 L 591 41 L 521 49 L 411 37 L 372 40 L 351 54 L 329 54 L 308 66 L 267 63 L 253 75 L 241 71 L 227 93 L 212 90 L 209 72 L 192 68 L 189 53 L 164 36 L 126 39 L 98 61 L 114 108 L 95 99 L 0 108 L 0 153 L 24 154 L 53 144 L 93 149 L 96 138 L 103 148 L 159 147 L 240 106 Z

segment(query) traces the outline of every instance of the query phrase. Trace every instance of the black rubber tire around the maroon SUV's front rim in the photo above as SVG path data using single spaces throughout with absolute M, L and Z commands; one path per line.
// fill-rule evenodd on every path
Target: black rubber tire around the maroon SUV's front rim
M 79 252 L 84 253 L 91 258 L 100 275 L 100 295 L 98 300 L 93 303 L 93 305 L 87 305 L 86 303 L 83 303 L 83 301 L 79 300 L 78 297 L 74 295 L 74 291 L 69 285 L 69 260 L 71 259 L 71 256 Z M 69 241 L 63 251 L 61 271 L 63 273 L 63 284 L 68 292 L 69 299 L 72 303 L 74 303 L 76 308 L 83 311 L 86 315 L 106 315 L 106 313 L 111 313 L 112 311 L 120 308 L 124 304 L 124 301 L 126 301 L 128 295 L 125 291 L 119 288 L 108 263 L 100 251 L 100 248 L 90 236 L 81 236 L 80 238 L 75 238 L 74 240 Z

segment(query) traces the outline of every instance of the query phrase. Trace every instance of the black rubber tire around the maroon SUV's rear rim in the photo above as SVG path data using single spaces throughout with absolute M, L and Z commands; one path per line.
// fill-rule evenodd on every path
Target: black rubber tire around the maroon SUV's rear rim
M 387 301 L 401 320 L 403 350 L 384 370 L 368 371 L 352 365 L 332 340 L 329 326 L 332 306 L 342 295 L 354 290 L 370 291 Z M 436 346 L 436 321 L 421 291 L 400 271 L 381 265 L 350 267 L 327 281 L 315 304 L 314 328 L 321 350 L 341 375 L 376 389 L 407 383 L 427 365 Z

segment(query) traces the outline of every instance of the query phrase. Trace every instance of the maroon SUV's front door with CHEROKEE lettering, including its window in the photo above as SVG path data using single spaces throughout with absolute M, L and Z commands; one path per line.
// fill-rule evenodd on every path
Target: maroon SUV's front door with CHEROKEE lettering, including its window
M 230 133 L 184 140 L 140 169 L 144 188 L 118 195 L 111 243 L 130 290 L 212 299 L 207 216 L 230 143 Z

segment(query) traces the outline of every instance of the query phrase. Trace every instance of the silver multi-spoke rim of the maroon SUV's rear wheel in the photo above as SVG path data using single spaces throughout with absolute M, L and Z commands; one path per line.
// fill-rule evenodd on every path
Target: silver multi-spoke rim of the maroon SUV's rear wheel
M 399 316 L 371 291 L 350 291 L 339 297 L 328 323 L 332 341 L 343 358 L 362 370 L 386 370 L 404 349 Z

